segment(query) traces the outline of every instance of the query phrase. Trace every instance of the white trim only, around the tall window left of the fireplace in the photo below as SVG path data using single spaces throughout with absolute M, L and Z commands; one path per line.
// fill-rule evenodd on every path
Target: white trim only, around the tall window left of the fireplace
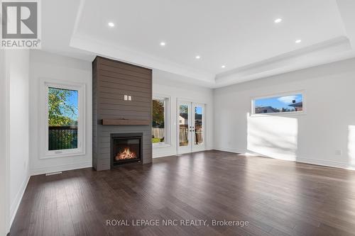
M 48 88 L 78 91 L 77 148 L 70 150 L 48 150 Z M 86 84 L 63 82 L 55 79 L 40 79 L 40 159 L 73 157 L 86 154 Z

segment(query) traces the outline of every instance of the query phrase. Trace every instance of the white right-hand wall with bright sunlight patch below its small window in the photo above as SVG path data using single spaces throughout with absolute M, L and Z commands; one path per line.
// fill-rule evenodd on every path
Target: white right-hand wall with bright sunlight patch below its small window
M 214 147 L 355 167 L 355 60 L 214 90 Z M 307 113 L 251 117 L 251 97 L 305 90 Z M 341 150 L 342 154 L 337 154 Z

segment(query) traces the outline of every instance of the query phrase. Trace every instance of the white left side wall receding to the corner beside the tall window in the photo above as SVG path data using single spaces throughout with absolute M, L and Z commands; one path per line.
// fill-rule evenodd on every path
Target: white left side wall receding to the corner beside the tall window
M 29 51 L 7 50 L 5 57 L 8 108 L 4 111 L 9 121 L 6 123 L 6 149 L 9 157 L 9 227 L 26 189 L 29 179 Z M 7 115 L 9 113 L 9 115 Z M 6 209 L 7 211 L 8 209 Z M 9 228 L 8 228 L 9 230 Z

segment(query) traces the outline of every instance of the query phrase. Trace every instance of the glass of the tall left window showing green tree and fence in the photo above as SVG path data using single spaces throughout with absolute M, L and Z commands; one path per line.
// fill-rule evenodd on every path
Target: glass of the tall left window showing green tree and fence
M 79 92 L 48 87 L 48 150 L 78 147 Z

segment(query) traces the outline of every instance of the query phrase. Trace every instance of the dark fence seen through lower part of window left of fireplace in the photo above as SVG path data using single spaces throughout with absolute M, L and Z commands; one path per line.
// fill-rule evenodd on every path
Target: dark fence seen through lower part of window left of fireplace
M 50 126 L 48 129 L 49 150 L 77 148 L 77 127 Z

